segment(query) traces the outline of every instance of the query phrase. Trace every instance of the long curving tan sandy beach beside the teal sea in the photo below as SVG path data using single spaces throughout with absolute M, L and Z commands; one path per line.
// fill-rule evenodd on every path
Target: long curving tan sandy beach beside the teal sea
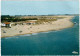
M 10 37 L 23 34 L 31 34 L 37 32 L 45 32 L 50 30 L 61 30 L 70 28 L 74 24 L 70 21 L 74 16 L 65 16 L 64 19 L 58 19 L 57 21 L 51 21 L 51 23 L 39 24 L 39 25 L 16 25 L 11 28 L 1 28 L 1 38 Z M 6 33 L 4 33 L 5 31 Z

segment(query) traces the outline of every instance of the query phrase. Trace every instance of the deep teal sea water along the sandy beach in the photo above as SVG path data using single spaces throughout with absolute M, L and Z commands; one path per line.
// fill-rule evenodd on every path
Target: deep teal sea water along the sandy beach
M 79 16 L 74 17 L 72 22 L 76 22 L 73 27 L 59 31 L 1 38 L 1 54 L 79 55 Z

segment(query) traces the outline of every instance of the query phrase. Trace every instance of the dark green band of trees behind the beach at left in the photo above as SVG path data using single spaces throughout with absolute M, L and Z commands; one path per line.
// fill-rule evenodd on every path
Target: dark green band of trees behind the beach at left
M 37 20 L 37 18 L 19 18 L 15 16 L 2 15 L 1 22 L 19 22 L 19 21 L 27 21 L 27 20 Z

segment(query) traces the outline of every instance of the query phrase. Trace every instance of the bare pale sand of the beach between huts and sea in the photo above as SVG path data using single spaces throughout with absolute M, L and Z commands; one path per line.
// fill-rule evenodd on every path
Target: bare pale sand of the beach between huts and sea
M 48 31 L 58 31 L 58 30 L 66 29 L 66 28 L 71 28 L 74 26 L 74 23 L 71 21 L 74 16 L 67 16 L 67 17 L 68 18 L 58 19 L 57 21 L 52 22 L 53 23 L 52 25 L 51 24 L 45 24 L 45 25 L 41 24 L 41 25 L 31 25 L 31 26 L 23 25 L 24 27 L 21 27 L 18 25 L 19 27 L 15 26 L 10 29 L 4 28 L 4 30 L 7 30 L 8 33 L 2 33 L 2 30 L 1 30 L 1 38 L 19 36 L 19 35 L 25 35 L 25 34 L 32 34 L 32 33 L 48 32 Z M 26 32 L 24 30 L 25 27 L 32 27 L 32 28 L 30 30 L 26 28 L 26 31 L 27 31 Z M 14 31 L 15 28 L 19 28 L 19 29 Z M 38 28 L 40 28 L 40 29 L 38 29 Z M 23 29 L 22 30 L 23 33 L 17 32 L 17 31 L 20 31 L 20 29 L 21 30 Z M 12 30 L 12 31 L 10 31 L 10 30 Z

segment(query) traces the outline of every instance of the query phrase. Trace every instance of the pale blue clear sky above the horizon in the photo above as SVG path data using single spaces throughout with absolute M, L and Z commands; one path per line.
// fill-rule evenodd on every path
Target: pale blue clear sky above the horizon
M 79 14 L 78 1 L 2 1 L 2 15 Z

